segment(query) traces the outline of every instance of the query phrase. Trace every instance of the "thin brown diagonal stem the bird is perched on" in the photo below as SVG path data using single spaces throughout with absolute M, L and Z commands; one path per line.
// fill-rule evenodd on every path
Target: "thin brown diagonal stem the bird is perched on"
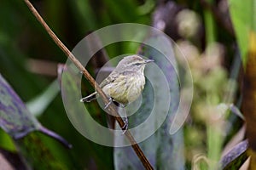
M 24 0 L 28 8 L 32 11 L 32 14 L 37 18 L 37 20 L 41 23 L 42 26 L 44 26 L 44 29 L 48 32 L 49 36 L 53 39 L 53 41 L 57 44 L 59 48 L 63 51 L 64 54 L 67 55 L 69 59 L 72 60 L 73 64 L 76 65 L 79 68 L 79 71 L 81 71 L 84 74 L 84 77 L 90 82 L 90 84 L 96 88 L 96 91 L 100 96 L 102 97 L 105 104 L 108 104 L 108 97 L 106 94 L 103 93 L 102 88 L 99 87 L 99 85 L 96 83 L 93 77 L 90 76 L 90 73 L 84 68 L 84 66 L 79 62 L 78 59 L 75 58 L 75 56 L 67 49 L 67 47 L 61 42 L 61 40 L 56 37 L 55 33 L 49 28 L 49 26 L 45 23 L 44 19 L 41 17 L 40 14 L 38 14 L 38 11 L 36 8 L 33 7 L 32 3 L 29 2 L 29 0 Z M 78 101 L 79 102 L 79 101 Z M 113 116 L 115 117 L 116 121 L 119 123 L 120 127 L 125 126 L 125 122 L 119 116 L 118 111 L 116 111 L 113 107 L 113 104 L 108 106 L 108 109 L 111 111 Z M 139 147 L 129 130 L 125 132 L 126 137 L 129 139 L 131 143 L 131 147 L 136 152 L 139 159 L 142 161 L 143 166 L 146 169 L 153 169 L 153 167 L 150 165 L 148 159 L 143 154 L 143 150 Z

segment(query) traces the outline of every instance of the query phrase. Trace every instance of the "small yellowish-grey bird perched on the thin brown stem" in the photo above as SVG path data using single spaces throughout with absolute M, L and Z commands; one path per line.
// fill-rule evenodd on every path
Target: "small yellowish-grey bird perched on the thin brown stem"
M 119 64 L 110 75 L 102 81 L 100 87 L 113 101 L 121 105 L 127 105 L 136 100 L 142 93 L 145 85 L 145 65 L 152 61 L 154 60 L 143 59 L 138 55 L 126 56 L 119 61 Z M 90 102 L 96 99 L 96 94 L 97 92 L 90 94 L 80 99 L 80 101 Z

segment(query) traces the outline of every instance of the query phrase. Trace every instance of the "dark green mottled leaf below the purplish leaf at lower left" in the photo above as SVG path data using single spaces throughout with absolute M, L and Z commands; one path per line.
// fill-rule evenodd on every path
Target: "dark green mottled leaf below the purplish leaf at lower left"
M 81 169 L 67 148 L 38 131 L 15 140 L 15 145 L 31 169 Z

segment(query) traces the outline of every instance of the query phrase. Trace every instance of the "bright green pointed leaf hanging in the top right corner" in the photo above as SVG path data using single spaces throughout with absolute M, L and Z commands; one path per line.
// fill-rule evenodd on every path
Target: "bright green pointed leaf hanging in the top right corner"
M 236 38 L 241 50 L 243 65 L 247 62 L 247 52 L 250 31 L 256 31 L 256 3 L 253 0 L 230 0 L 230 16 L 236 32 Z

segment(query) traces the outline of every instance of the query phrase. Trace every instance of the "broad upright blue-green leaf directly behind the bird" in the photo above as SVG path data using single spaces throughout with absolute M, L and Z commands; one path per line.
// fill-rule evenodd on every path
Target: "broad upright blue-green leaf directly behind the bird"
M 160 47 L 160 49 L 155 49 L 145 45 L 142 47 L 141 54 L 154 59 L 154 63 L 160 67 L 164 77 L 160 77 L 156 73 L 154 65 L 146 66 L 145 75 L 150 78 L 150 82 L 147 80 L 145 89 L 143 90 L 141 107 L 134 115 L 129 116 L 129 127 L 139 127 L 138 125 L 143 124 L 143 122 L 149 123 L 148 129 L 138 128 L 133 133 L 134 136 L 143 135 L 147 130 L 157 130 L 148 139 L 139 143 L 143 153 L 155 169 L 184 169 L 183 130 L 179 129 L 174 135 L 170 134 L 173 116 L 175 116 L 179 104 L 179 86 L 176 74 L 177 64 L 172 51 L 172 42 L 163 35 L 154 35 L 149 37 L 145 42 L 153 47 Z M 163 94 L 163 91 L 166 94 Z M 166 96 L 168 94 L 171 95 L 170 103 L 166 103 Z M 157 115 L 150 113 L 154 105 L 160 106 L 160 109 L 157 110 Z M 166 105 L 169 107 L 169 111 L 165 110 Z M 128 105 L 127 107 L 127 115 L 130 115 L 129 113 L 134 106 L 131 104 L 131 106 Z M 160 125 L 162 121 L 160 117 L 165 114 L 166 116 L 163 117 L 164 121 Z M 146 121 L 148 116 L 154 116 L 153 121 Z M 159 125 L 160 128 L 158 128 Z M 142 163 L 135 156 L 131 147 L 114 148 L 114 163 L 116 169 L 143 168 Z

